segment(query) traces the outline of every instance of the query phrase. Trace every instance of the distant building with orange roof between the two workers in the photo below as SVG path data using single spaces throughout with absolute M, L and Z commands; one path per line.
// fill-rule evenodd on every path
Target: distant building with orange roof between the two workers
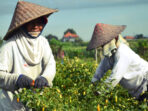
M 62 38 L 62 42 L 75 42 L 77 38 L 79 38 L 77 34 L 67 32 Z

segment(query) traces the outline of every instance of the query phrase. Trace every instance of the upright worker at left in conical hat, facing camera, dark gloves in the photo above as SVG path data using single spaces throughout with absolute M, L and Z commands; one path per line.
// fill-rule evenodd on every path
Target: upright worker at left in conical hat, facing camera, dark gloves
M 47 40 L 41 36 L 47 17 L 56 12 L 18 1 L 0 50 L 0 111 L 26 111 L 14 97 L 21 88 L 52 86 L 56 64 Z

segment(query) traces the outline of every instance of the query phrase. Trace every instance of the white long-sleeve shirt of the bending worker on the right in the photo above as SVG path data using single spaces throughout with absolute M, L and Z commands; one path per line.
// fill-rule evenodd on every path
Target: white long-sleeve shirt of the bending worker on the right
M 92 82 L 100 80 L 109 69 L 112 73 L 106 82 L 110 82 L 112 87 L 120 83 L 136 98 L 147 90 L 148 62 L 127 45 L 121 43 L 113 56 L 101 60 Z

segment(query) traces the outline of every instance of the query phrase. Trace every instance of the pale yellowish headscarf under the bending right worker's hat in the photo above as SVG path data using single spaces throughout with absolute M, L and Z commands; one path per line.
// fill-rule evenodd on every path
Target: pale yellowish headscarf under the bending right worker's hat
M 129 45 L 128 42 L 119 34 L 117 40 L 114 38 L 103 46 L 102 50 L 100 51 L 101 58 L 104 58 L 105 56 L 111 57 L 112 54 L 116 52 L 117 46 L 119 46 L 120 43 Z

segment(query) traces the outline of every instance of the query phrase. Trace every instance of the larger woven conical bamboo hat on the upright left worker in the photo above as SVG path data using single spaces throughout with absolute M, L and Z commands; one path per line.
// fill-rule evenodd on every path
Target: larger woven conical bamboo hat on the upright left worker
M 43 16 L 57 12 L 56 9 L 46 8 L 26 1 L 18 1 L 8 32 L 4 40 L 8 40 L 22 25 Z

